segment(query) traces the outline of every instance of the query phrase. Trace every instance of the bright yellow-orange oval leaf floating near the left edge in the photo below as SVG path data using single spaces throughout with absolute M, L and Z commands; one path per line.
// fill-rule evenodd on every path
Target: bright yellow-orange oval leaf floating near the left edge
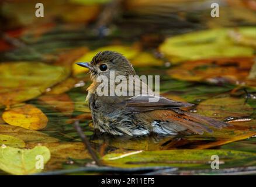
M 29 130 L 46 127 L 48 119 L 40 109 L 33 105 L 23 105 L 5 111 L 2 115 L 6 123 Z

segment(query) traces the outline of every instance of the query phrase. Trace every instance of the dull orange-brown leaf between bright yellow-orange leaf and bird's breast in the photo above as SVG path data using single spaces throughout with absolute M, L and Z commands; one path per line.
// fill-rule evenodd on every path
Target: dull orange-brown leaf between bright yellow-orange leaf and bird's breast
M 60 111 L 65 115 L 72 115 L 74 103 L 66 93 L 60 95 L 42 95 L 39 98 L 40 103 L 44 103 L 54 110 Z

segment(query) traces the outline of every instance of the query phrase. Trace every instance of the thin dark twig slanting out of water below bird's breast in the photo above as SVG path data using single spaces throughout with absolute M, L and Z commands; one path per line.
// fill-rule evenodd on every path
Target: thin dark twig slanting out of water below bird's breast
M 85 144 L 85 147 L 87 147 L 87 150 L 88 150 L 89 154 L 91 155 L 92 159 L 95 161 L 95 163 L 97 165 L 101 166 L 102 165 L 101 161 L 99 161 L 98 157 L 94 153 L 94 150 L 92 150 L 92 147 L 89 143 L 87 136 L 84 134 L 81 127 L 79 126 L 79 121 L 75 121 L 74 128 L 75 128 L 75 130 L 77 130 L 77 133 L 80 136 L 82 142 Z

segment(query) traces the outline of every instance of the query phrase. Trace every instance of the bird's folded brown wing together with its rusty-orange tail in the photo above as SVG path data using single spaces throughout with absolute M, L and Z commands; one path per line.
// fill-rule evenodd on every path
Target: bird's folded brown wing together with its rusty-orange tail
M 134 96 L 127 99 L 126 109 L 137 113 L 141 118 L 147 118 L 158 126 L 158 131 L 169 134 L 186 131 L 187 133 L 202 134 L 204 131 L 212 132 L 208 126 L 221 129 L 227 123 L 210 117 L 196 115 L 181 110 L 182 107 L 193 106 L 190 103 L 177 102 L 160 96 L 158 102 L 148 102 L 150 96 Z

